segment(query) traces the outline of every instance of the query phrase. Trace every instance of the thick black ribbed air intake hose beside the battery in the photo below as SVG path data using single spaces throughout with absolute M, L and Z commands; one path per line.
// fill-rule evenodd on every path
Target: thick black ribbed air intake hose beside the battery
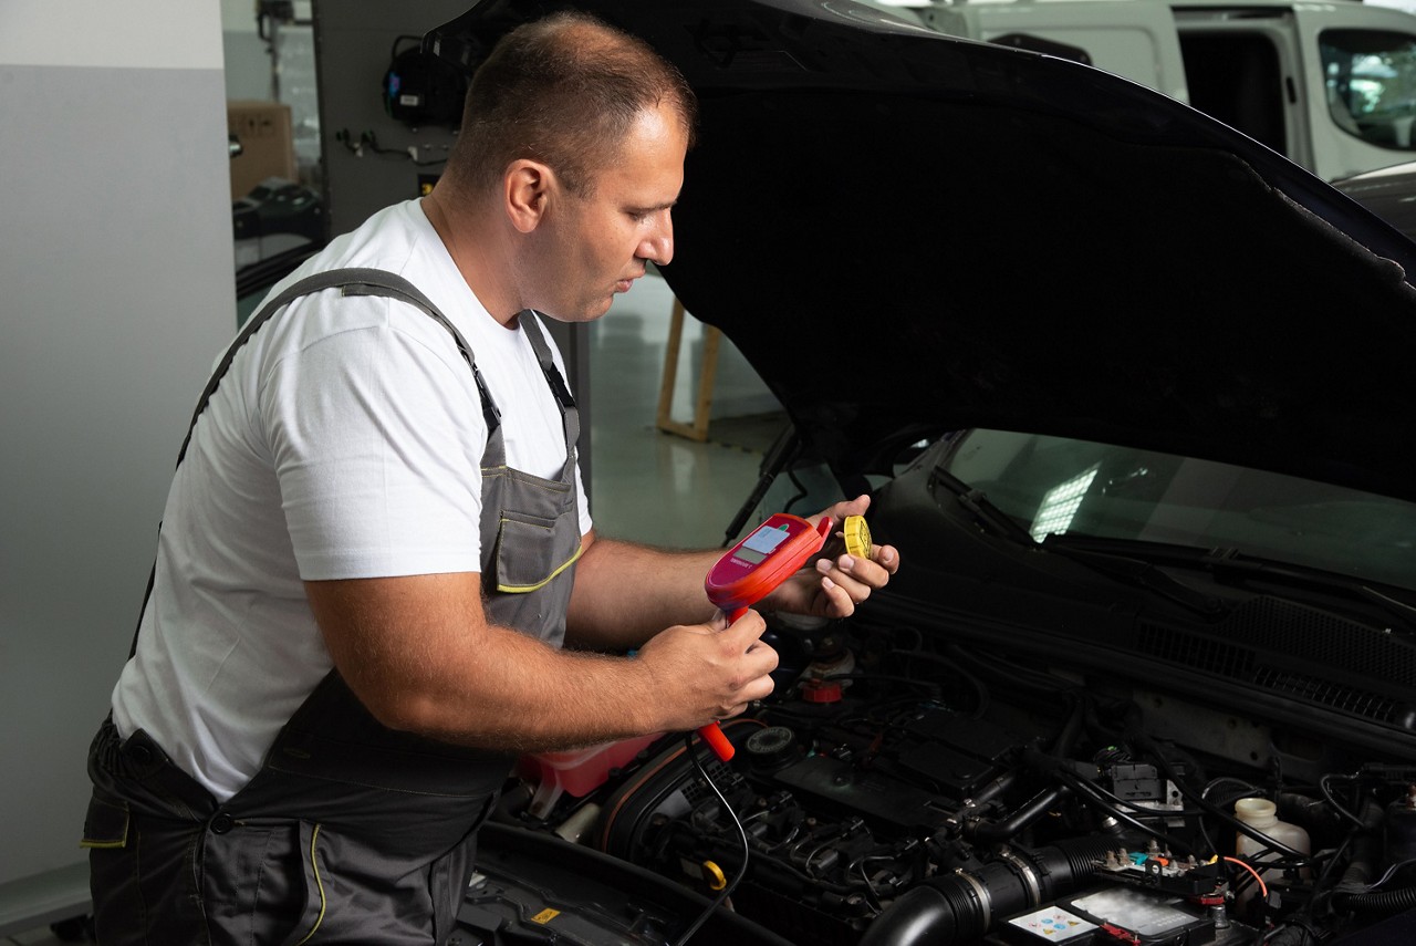
M 976 871 L 925 881 L 881 913 L 860 946 L 971 943 L 995 921 L 1076 891 L 1112 844 L 1075 838 L 1037 851 L 1008 848 Z

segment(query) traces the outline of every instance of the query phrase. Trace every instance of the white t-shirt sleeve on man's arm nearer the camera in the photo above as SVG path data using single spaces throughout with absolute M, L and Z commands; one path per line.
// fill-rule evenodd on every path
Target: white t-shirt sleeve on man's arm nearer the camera
M 430 319 L 286 354 L 262 380 L 261 418 L 302 579 L 481 571 L 487 429 L 467 364 Z

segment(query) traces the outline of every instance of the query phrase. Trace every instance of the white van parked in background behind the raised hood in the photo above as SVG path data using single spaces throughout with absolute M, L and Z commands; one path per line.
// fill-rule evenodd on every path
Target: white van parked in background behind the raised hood
M 950 35 L 1086 62 L 1335 180 L 1416 157 L 1416 16 L 1354 0 L 878 0 Z

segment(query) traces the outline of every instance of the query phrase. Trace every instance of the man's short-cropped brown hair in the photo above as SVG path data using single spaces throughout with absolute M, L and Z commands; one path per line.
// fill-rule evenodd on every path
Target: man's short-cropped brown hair
M 678 69 L 595 17 L 556 13 L 508 33 L 473 75 L 449 170 L 480 188 L 531 159 L 583 195 L 640 113 L 664 102 L 691 143 L 697 105 Z

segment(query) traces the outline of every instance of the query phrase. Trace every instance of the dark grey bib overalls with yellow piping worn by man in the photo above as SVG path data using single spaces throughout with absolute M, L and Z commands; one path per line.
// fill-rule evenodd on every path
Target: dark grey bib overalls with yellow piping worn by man
M 251 334 L 296 296 L 329 287 L 402 299 L 453 336 L 489 426 L 483 606 L 491 622 L 558 646 L 581 551 L 579 414 L 534 317 L 521 324 L 565 426 L 556 480 L 507 467 L 500 418 L 466 340 L 412 285 L 378 270 L 321 273 L 266 304 L 207 384 L 193 426 Z M 84 826 L 98 939 L 105 946 L 442 943 L 472 874 L 477 827 L 510 768 L 506 755 L 382 726 L 337 670 L 285 725 L 255 777 L 222 804 L 146 732 L 120 741 L 105 721 L 89 752 L 93 799 Z

